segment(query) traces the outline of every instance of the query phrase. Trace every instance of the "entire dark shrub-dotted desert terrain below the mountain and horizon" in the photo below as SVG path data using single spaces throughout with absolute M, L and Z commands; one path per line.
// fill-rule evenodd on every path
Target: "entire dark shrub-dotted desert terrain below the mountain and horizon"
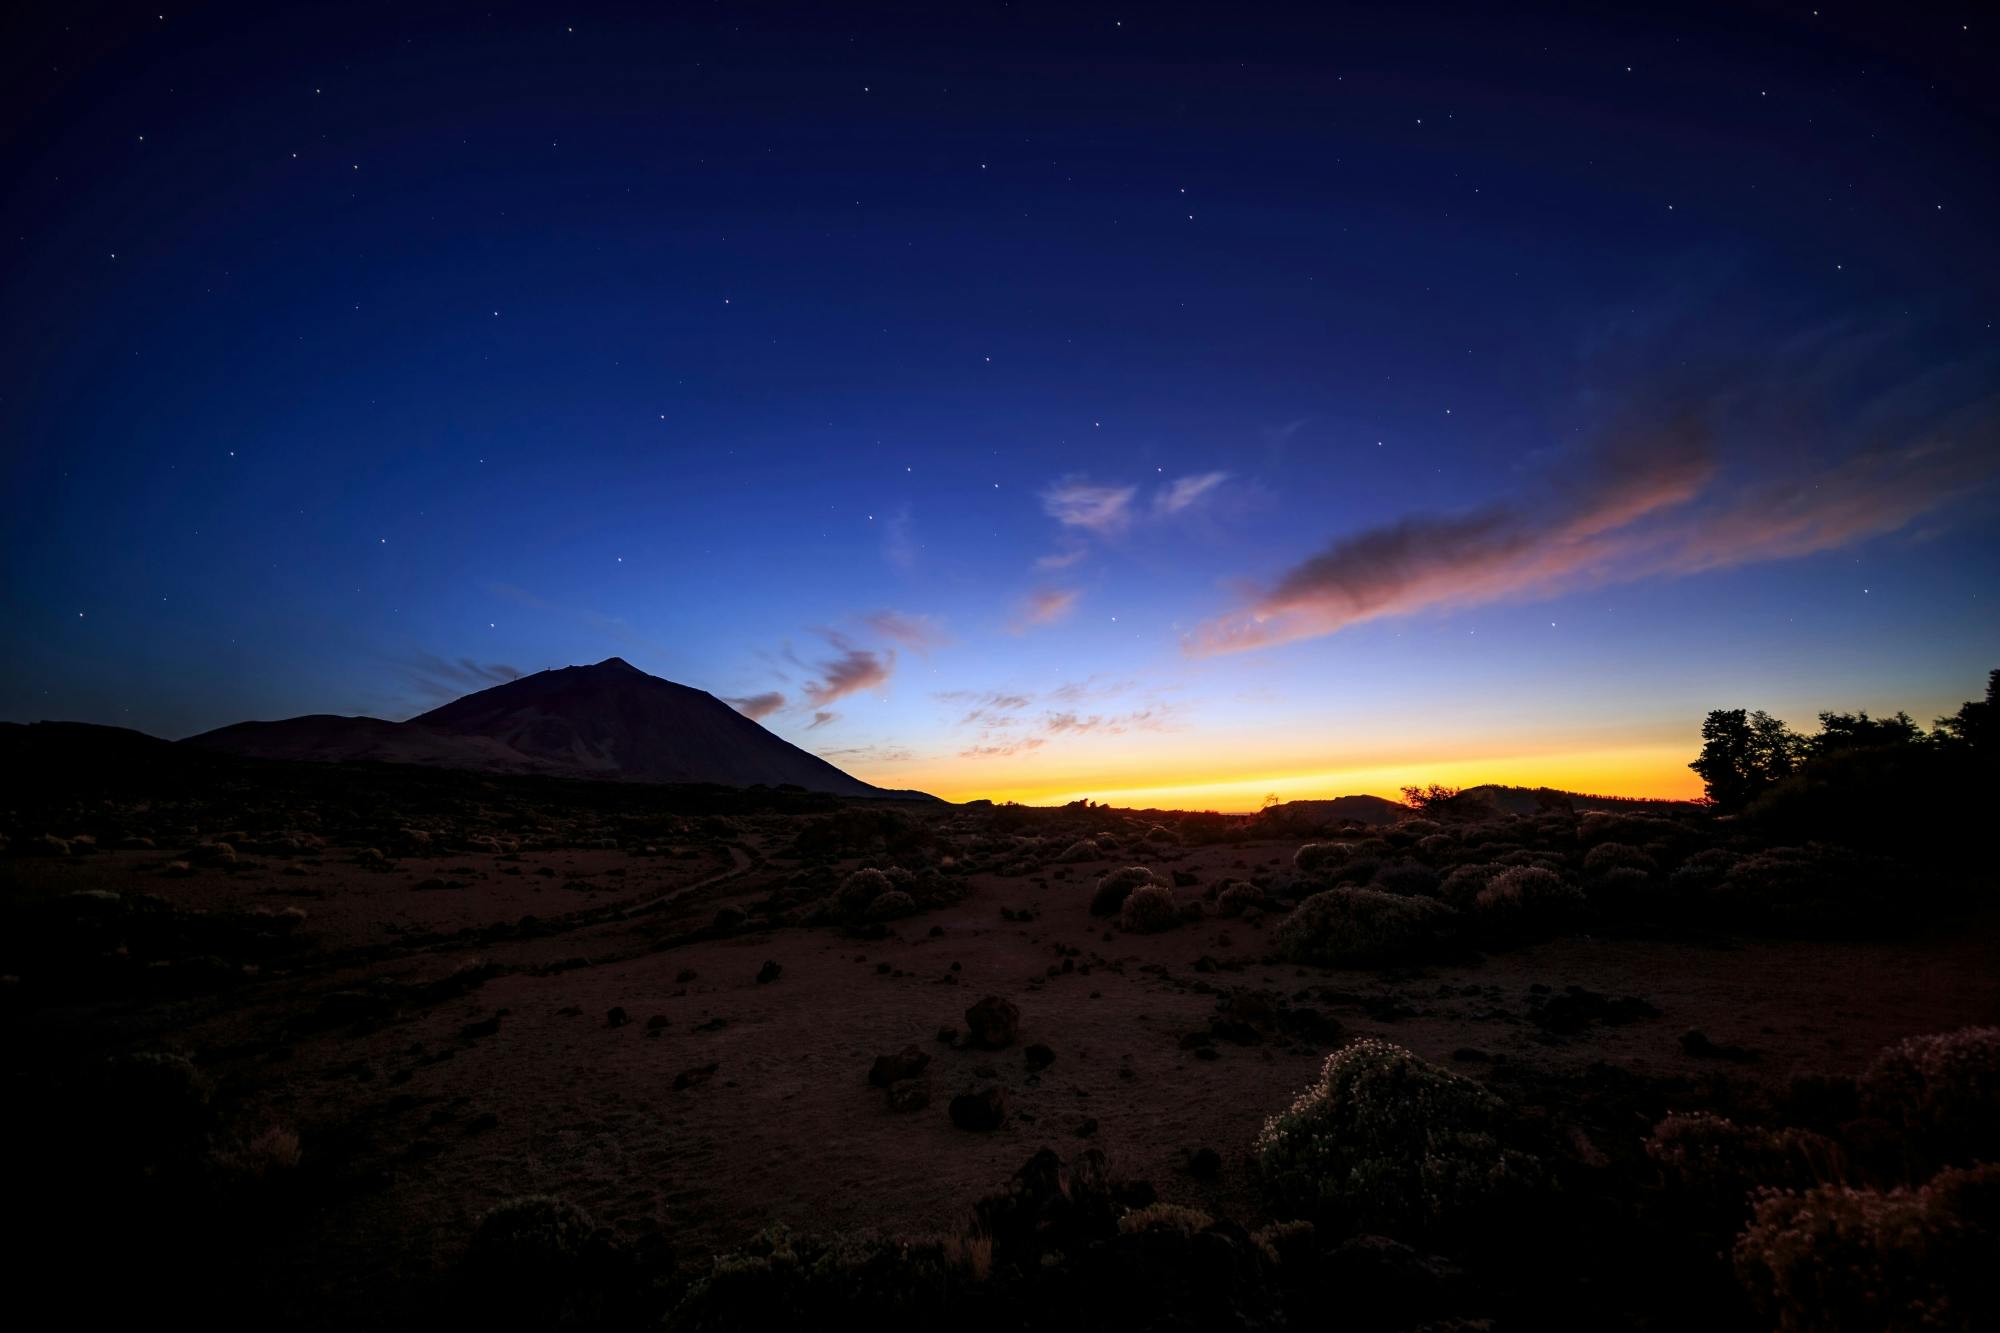
M 68 1323 L 1996 1317 L 1964 857 L 56 749 L 0 997 Z

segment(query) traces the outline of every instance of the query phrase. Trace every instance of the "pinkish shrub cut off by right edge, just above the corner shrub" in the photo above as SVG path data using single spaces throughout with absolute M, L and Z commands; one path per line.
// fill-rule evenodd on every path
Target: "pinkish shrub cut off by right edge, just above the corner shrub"
M 1924 1169 L 2000 1161 L 2000 1027 L 1898 1041 L 1862 1075 L 1860 1095 Z

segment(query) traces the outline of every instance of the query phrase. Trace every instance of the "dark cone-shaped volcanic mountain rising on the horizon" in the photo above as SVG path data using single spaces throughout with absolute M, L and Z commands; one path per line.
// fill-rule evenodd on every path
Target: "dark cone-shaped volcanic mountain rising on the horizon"
M 774 737 L 714 695 L 650 677 L 616 656 L 508 681 L 408 723 L 316 713 L 236 723 L 182 745 L 256 759 L 370 759 L 480 773 L 790 785 L 840 797 L 930 799 L 864 783 Z

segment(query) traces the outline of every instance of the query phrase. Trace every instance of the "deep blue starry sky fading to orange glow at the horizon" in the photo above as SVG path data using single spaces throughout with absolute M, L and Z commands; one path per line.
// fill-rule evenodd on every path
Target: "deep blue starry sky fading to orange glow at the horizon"
M 0 717 L 1694 795 L 2000 664 L 1992 12 L 42 6 Z

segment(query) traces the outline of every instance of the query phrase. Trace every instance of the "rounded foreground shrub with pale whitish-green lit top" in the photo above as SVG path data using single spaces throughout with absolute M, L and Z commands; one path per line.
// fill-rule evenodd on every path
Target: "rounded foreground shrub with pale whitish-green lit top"
M 1364 1039 L 1264 1121 L 1254 1151 L 1280 1217 L 1434 1235 L 1476 1223 L 1534 1179 L 1534 1159 L 1502 1147 L 1504 1119 L 1478 1083 Z

